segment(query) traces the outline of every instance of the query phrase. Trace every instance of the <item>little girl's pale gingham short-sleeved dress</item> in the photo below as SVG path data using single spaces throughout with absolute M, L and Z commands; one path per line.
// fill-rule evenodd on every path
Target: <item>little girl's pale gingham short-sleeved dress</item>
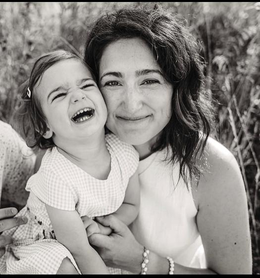
M 80 273 L 69 250 L 55 239 L 45 204 L 60 210 L 76 209 L 81 217 L 115 212 L 123 202 L 129 178 L 137 170 L 139 157 L 132 146 L 113 134 L 106 135 L 106 146 L 111 170 L 105 180 L 72 164 L 56 147 L 46 152 L 39 171 L 27 182 L 29 199 L 18 214 L 28 218 L 27 224 L 4 232 L 12 235 L 14 242 L 0 259 L 1 274 L 56 274 L 65 257 Z

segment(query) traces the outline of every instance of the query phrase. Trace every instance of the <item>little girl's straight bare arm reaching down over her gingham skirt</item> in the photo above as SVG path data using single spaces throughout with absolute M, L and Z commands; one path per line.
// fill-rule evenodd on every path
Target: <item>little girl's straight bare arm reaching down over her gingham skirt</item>
M 88 241 L 84 224 L 75 211 L 65 211 L 46 205 L 58 242 L 72 254 L 82 274 L 109 274 L 103 260 Z

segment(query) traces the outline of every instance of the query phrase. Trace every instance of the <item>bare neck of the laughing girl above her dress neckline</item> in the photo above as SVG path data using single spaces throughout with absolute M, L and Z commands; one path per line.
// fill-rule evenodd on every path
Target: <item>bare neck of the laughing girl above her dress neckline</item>
M 106 179 L 110 172 L 110 154 L 106 148 L 104 132 L 77 142 L 59 144 L 57 150 L 95 178 Z

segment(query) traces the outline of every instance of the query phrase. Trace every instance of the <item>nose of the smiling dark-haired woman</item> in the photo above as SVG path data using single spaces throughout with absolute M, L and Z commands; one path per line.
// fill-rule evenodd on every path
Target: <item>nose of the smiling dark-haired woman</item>
M 135 87 L 128 87 L 124 92 L 124 108 L 130 113 L 138 111 L 143 106 L 142 93 Z

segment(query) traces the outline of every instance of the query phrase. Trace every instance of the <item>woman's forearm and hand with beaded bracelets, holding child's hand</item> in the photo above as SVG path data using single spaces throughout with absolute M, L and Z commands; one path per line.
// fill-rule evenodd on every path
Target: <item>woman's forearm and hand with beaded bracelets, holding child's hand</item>
M 121 268 L 133 274 L 141 273 L 144 246 L 133 236 L 129 228 L 112 215 L 98 217 L 97 221 L 109 226 L 113 233 L 109 236 L 92 234 L 89 241 L 97 247 L 105 264 L 109 267 Z M 169 220 L 170 221 L 170 220 Z M 168 274 L 169 261 L 150 250 L 147 274 Z M 215 274 L 209 269 L 194 269 L 175 263 L 174 274 Z

